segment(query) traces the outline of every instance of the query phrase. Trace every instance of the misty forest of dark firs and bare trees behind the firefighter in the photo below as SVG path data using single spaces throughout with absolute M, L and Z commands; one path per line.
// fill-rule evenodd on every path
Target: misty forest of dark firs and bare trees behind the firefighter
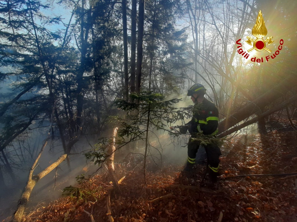
M 218 138 L 226 144 L 238 135 L 247 140 L 248 126 L 263 139 L 268 122 L 282 120 L 296 131 L 296 4 L 0 1 L 0 194 L 2 202 L 23 194 L 14 221 L 22 221 L 35 184 L 52 170 L 57 176 L 60 163 L 67 163 L 63 173 L 70 175 L 78 156 L 108 168 L 119 191 L 115 177 L 124 173 L 114 175 L 114 158 L 134 155 L 135 166 L 143 168 L 140 183 L 150 184 L 155 178 L 146 174 L 154 171 L 148 166 L 166 167 L 165 144 L 181 147 L 187 141 L 170 126 L 191 118 L 186 91 L 195 83 L 205 86 L 205 97 L 218 107 Z M 252 33 L 262 14 L 266 48 L 250 51 L 262 38 Z M 269 143 L 278 147 L 279 140 Z M 25 186 L 24 195 L 18 190 Z M 8 216 L 4 211 L 0 215 Z M 134 221 L 145 216 L 140 218 Z M 90 213 L 87 220 L 94 221 Z

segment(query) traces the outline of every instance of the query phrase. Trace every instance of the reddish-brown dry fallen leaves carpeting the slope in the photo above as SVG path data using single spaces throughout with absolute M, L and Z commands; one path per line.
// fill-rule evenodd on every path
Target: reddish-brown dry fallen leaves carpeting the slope
M 267 153 L 274 149 L 273 143 L 277 140 L 272 137 L 267 137 L 266 147 L 268 147 L 268 149 L 264 149 L 263 144 L 261 144 L 261 138 L 259 136 L 255 137 L 256 139 L 251 140 L 248 147 L 245 144 L 241 144 L 240 139 L 234 141 L 234 146 L 232 147 L 234 154 L 230 155 L 228 158 L 224 155 L 221 157 L 223 169 L 221 177 L 244 174 L 244 170 L 247 170 L 247 168 L 253 174 L 270 173 L 273 172 L 273 169 L 290 170 L 288 172 L 297 170 L 296 165 L 289 163 L 292 158 L 282 161 L 282 152 L 274 153 L 270 156 L 271 159 L 259 163 L 258 160 L 261 160 Z M 259 138 L 257 139 L 257 137 Z M 286 141 L 286 144 L 289 143 Z M 279 150 L 280 149 L 288 149 L 288 147 L 279 147 Z M 246 155 L 247 152 L 249 155 Z M 287 155 L 288 152 L 285 154 Z M 274 162 L 271 161 L 272 159 L 274 159 Z M 286 168 L 289 164 L 290 168 Z M 195 176 L 200 178 L 201 172 L 197 170 L 197 175 Z M 168 175 L 169 173 L 170 176 Z M 119 222 L 133 220 L 139 222 L 145 221 L 145 218 L 152 218 L 154 221 L 161 221 L 160 218 L 167 218 L 167 221 L 211 221 L 209 218 L 211 218 L 212 215 L 214 215 L 212 220 L 217 222 L 217 219 L 214 220 L 214 218 L 220 219 L 221 213 L 223 212 L 223 221 L 251 221 L 251 219 L 259 221 L 258 219 L 261 217 L 264 218 L 264 216 L 267 218 L 267 221 L 281 221 L 279 220 L 280 218 L 282 218 L 283 221 L 297 221 L 294 220 L 296 219 L 297 208 L 295 209 L 292 206 L 296 201 L 296 190 L 294 190 L 294 188 L 296 187 L 297 189 L 297 181 L 295 182 L 295 177 L 284 178 L 281 183 L 279 183 L 279 178 L 272 177 L 245 177 L 241 182 L 238 182 L 238 179 L 224 179 L 219 182 L 219 186 L 224 189 L 224 193 L 219 195 L 197 192 L 192 189 L 164 189 L 165 184 L 189 185 L 187 184 L 187 180 L 182 178 L 178 166 L 174 165 L 171 166 L 170 170 L 166 171 L 166 174 L 158 175 L 158 173 L 148 173 L 149 179 L 147 186 L 140 186 L 139 184 L 142 184 L 142 181 L 139 178 L 135 172 L 130 173 L 130 176 L 127 176 L 128 180 L 123 181 L 126 186 L 123 195 L 116 195 L 111 198 L 112 214 Z M 110 180 L 106 178 L 104 181 L 101 177 L 94 179 L 93 182 L 97 184 L 96 186 L 101 186 L 101 181 L 107 184 Z M 199 186 L 199 184 L 193 185 Z M 102 220 L 105 221 L 107 219 L 105 215 L 106 210 L 100 201 L 106 200 L 105 194 L 110 187 L 103 185 L 102 187 L 105 187 L 105 189 L 100 191 L 101 197 L 96 203 L 96 208 L 94 208 L 94 210 L 96 209 L 97 215 L 94 216 L 102 218 Z M 208 188 L 207 186 L 205 187 Z M 157 197 L 168 195 L 168 193 L 172 193 L 173 196 L 163 200 L 161 198 L 156 204 L 149 202 Z M 82 206 L 88 205 L 88 203 L 80 204 Z M 74 219 L 80 219 L 83 221 L 84 218 L 80 215 L 82 210 L 71 211 L 75 208 L 79 208 L 79 204 L 77 204 L 76 201 L 71 202 L 65 200 L 64 202 L 55 202 L 55 204 L 50 207 L 41 208 L 38 219 L 43 222 L 56 222 L 64 220 L 66 217 L 64 215 L 67 214 L 69 220 L 74 221 Z M 42 213 L 42 211 L 44 211 L 44 213 Z M 139 213 L 139 216 L 136 212 Z M 191 218 L 187 218 L 187 212 L 196 212 L 198 217 L 196 217 L 194 213 L 191 213 Z M 218 215 L 219 212 L 220 215 Z M 52 218 L 48 216 L 45 217 L 45 215 L 48 214 L 51 214 Z M 37 218 L 36 215 L 37 214 L 32 215 L 31 221 L 29 220 L 30 218 L 28 218 L 27 221 L 33 222 L 35 220 L 33 217 Z M 288 215 L 292 215 L 291 218 L 289 218 Z M 271 218 L 272 216 L 274 219 Z

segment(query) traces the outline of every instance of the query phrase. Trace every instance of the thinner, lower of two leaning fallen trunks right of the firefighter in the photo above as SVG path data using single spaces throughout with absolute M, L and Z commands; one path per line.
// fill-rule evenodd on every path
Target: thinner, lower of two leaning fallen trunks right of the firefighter
M 223 133 L 220 133 L 217 137 L 222 138 L 222 137 L 224 137 L 224 136 L 228 136 L 228 135 L 230 135 L 231 133 L 234 133 L 234 132 L 240 130 L 241 128 L 244 128 L 244 127 L 246 127 L 246 126 L 249 126 L 249 125 L 252 124 L 252 123 L 257 122 L 257 121 L 259 120 L 259 118 L 263 118 L 263 117 L 269 116 L 269 115 L 271 115 L 272 113 L 274 113 L 274 112 L 276 112 L 276 111 L 278 111 L 278 110 L 281 110 L 281 109 L 285 108 L 285 107 L 288 106 L 291 102 L 294 102 L 294 101 L 296 101 L 296 100 L 297 100 L 297 95 L 292 96 L 290 99 L 287 99 L 285 102 L 282 102 L 281 104 L 279 104 L 279 105 L 273 107 L 272 109 L 270 109 L 270 110 L 268 110 L 268 111 L 262 113 L 261 115 L 258 115 L 257 117 L 255 117 L 255 118 L 253 118 L 253 119 L 251 119 L 251 120 L 248 120 L 248 121 L 246 121 L 246 122 L 240 124 L 239 126 L 235 126 L 235 127 L 231 128 L 231 129 L 229 129 L 229 130 L 227 130 L 227 131 L 225 131 L 225 132 L 223 132 Z

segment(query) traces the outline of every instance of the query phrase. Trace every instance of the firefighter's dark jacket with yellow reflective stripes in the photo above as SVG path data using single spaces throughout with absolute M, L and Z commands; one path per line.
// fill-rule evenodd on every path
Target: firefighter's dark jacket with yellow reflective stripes
M 202 103 L 195 104 L 193 118 L 186 125 L 191 124 L 189 133 L 201 132 L 204 135 L 216 135 L 219 125 L 219 111 L 215 104 L 206 98 Z

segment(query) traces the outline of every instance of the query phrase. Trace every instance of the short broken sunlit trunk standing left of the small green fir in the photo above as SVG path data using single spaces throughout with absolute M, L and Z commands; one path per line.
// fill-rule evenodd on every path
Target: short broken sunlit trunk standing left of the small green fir
M 116 134 L 118 132 L 118 127 L 115 127 L 113 129 L 113 142 L 111 144 L 108 145 L 108 150 L 107 150 L 107 154 L 108 154 L 108 158 L 107 158 L 107 168 L 108 168 L 108 172 L 112 178 L 113 181 L 113 186 L 115 187 L 115 189 L 117 191 L 120 191 L 120 186 L 118 183 L 118 180 L 116 179 L 116 175 L 115 175 L 115 169 L 114 169 L 114 164 L 113 164 L 113 160 L 114 160 L 114 152 L 116 151 Z

